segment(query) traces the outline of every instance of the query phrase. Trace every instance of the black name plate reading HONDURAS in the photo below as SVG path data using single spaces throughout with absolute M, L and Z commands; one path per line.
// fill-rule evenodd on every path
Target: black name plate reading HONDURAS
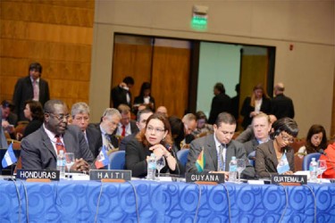
M 18 169 L 16 172 L 16 178 L 59 180 L 59 170 Z

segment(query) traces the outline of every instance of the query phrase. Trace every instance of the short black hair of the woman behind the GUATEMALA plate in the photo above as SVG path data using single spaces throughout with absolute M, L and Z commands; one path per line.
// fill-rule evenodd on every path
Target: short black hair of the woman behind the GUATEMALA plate
M 288 133 L 290 136 L 297 137 L 299 129 L 297 128 L 297 122 L 290 118 L 282 118 L 276 120 L 272 123 L 272 128 L 274 132 L 272 133 L 272 138 L 278 136 L 282 131 Z

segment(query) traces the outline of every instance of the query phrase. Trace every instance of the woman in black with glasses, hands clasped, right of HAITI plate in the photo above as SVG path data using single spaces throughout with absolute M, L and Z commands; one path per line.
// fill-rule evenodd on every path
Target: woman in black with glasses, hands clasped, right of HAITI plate
M 161 173 L 180 174 L 180 163 L 172 152 L 172 135 L 169 120 L 155 113 L 147 119 L 146 128 L 128 143 L 126 147 L 126 169 L 132 171 L 132 177 L 147 176 L 147 160 L 151 153 L 156 159 L 164 157 L 165 167 Z

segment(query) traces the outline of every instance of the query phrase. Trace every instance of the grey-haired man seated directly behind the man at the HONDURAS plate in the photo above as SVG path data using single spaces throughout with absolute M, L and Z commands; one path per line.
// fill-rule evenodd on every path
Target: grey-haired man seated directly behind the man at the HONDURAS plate
M 71 108 L 72 125 L 78 126 L 88 142 L 89 150 L 96 159 L 101 147 L 101 133 L 89 126 L 89 107 L 87 103 L 74 103 Z

